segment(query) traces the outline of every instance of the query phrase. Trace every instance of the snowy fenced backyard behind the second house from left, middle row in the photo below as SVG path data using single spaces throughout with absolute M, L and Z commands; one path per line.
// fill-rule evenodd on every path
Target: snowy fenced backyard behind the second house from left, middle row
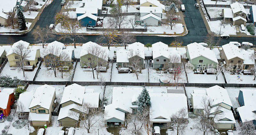
M 45 63 L 43 62 L 41 65 L 41 69 L 39 70 L 36 81 L 71 81 L 73 71 L 74 71 L 75 65 L 73 65 L 73 68 L 70 69 L 67 72 L 63 71 L 63 78 L 61 78 L 61 71 L 56 68 L 56 76 L 54 76 L 53 69 L 47 70 L 47 67 L 45 67 Z

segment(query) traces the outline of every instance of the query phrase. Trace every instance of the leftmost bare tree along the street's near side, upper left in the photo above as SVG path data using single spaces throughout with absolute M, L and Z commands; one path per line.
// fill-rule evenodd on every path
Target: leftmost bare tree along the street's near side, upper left
M 36 43 L 42 43 L 43 48 L 47 40 L 51 37 L 54 37 L 52 30 L 48 26 L 44 28 L 36 26 L 36 28 L 34 28 L 32 31 L 32 35 L 34 36 Z

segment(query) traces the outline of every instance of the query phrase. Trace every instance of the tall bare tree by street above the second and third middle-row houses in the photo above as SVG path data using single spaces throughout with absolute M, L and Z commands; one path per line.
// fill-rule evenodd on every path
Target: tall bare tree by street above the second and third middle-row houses
M 65 20 L 63 27 L 65 28 L 64 33 L 61 33 L 60 39 L 70 39 L 74 43 L 74 47 L 76 48 L 76 39 L 77 38 L 84 38 L 83 36 L 79 35 L 78 32 L 81 30 L 81 24 L 79 21 L 74 19 Z

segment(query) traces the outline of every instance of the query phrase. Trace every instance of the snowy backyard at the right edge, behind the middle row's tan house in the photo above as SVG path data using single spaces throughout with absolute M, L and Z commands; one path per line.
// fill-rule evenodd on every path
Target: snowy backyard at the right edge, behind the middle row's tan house
M 254 75 L 230 75 L 228 72 L 224 72 L 227 83 L 239 83 L 239 84 L 248 84 L 248 83 L 256 83 L 253 81 Z

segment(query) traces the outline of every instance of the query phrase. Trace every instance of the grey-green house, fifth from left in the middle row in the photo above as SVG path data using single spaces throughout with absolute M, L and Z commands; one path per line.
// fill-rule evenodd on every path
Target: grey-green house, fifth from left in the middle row
M 175 64 L 181 63 L 180 52 L 175 50 L 175 48 L 169 49 L 168 45 L 162 42 L 152 44 L 152 55 L 152 66 L 154 69 L 165 70 L 167 68 L 174 68 Z M 173 57 L 177 57 L 177 59 L 173 61 Z M 170 60 L 170 58 L 172 60 Z

